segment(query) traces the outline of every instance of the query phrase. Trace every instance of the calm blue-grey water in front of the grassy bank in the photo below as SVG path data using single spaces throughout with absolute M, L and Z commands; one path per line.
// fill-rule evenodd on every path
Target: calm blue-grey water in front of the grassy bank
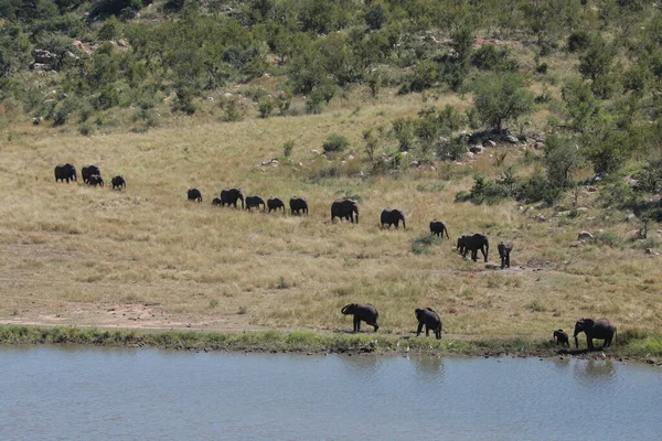
M 0 440 L 660 440 L 662 369 L 0 347 Z

